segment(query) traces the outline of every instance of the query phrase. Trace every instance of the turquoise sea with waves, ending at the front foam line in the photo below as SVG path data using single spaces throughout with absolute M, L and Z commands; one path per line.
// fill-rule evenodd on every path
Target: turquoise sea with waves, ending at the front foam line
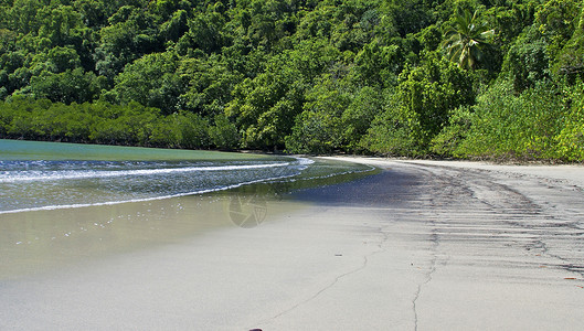
M 0 140 L 0 214 L 168 199 L 263 182 L 317 183 L 371 170 L 307 158 Z

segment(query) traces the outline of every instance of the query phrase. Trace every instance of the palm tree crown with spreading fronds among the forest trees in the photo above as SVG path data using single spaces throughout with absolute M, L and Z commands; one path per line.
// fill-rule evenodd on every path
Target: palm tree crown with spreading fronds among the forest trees
M 468 10 L 458 10 L 454 26 L 445 32 L 446 40 L 443 47 L 448 58 L 464 68 L 474 68 L 482 55 L 481 49 L 489 44 L 489 38 L 495 34 L 487 28 L 486 22 L 478 22 L 477 11 L 472 15 Z

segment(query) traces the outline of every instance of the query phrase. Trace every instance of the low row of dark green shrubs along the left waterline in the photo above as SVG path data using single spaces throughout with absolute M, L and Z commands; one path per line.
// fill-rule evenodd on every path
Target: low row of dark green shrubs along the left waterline
M 0 137 L 183 149 L 233 149 L 238 136 L 224 115 L 212 120 L 193 113 L 161 116 L 136 102 L 65 105 L 15 97 L 0 102 Z

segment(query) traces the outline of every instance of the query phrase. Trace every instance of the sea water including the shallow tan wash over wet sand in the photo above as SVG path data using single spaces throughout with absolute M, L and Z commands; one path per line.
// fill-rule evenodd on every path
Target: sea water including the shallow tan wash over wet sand
M 306 158 L 0 140 L 0 279 L 255 227 L 296 209 L 293 192 L 371 172 Z

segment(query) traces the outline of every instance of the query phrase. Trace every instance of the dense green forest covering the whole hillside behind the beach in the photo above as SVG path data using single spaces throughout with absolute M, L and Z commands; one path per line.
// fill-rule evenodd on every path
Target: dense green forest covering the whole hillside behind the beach
M 0 0 L 0 138 L 584 161 L 582 0 Z

